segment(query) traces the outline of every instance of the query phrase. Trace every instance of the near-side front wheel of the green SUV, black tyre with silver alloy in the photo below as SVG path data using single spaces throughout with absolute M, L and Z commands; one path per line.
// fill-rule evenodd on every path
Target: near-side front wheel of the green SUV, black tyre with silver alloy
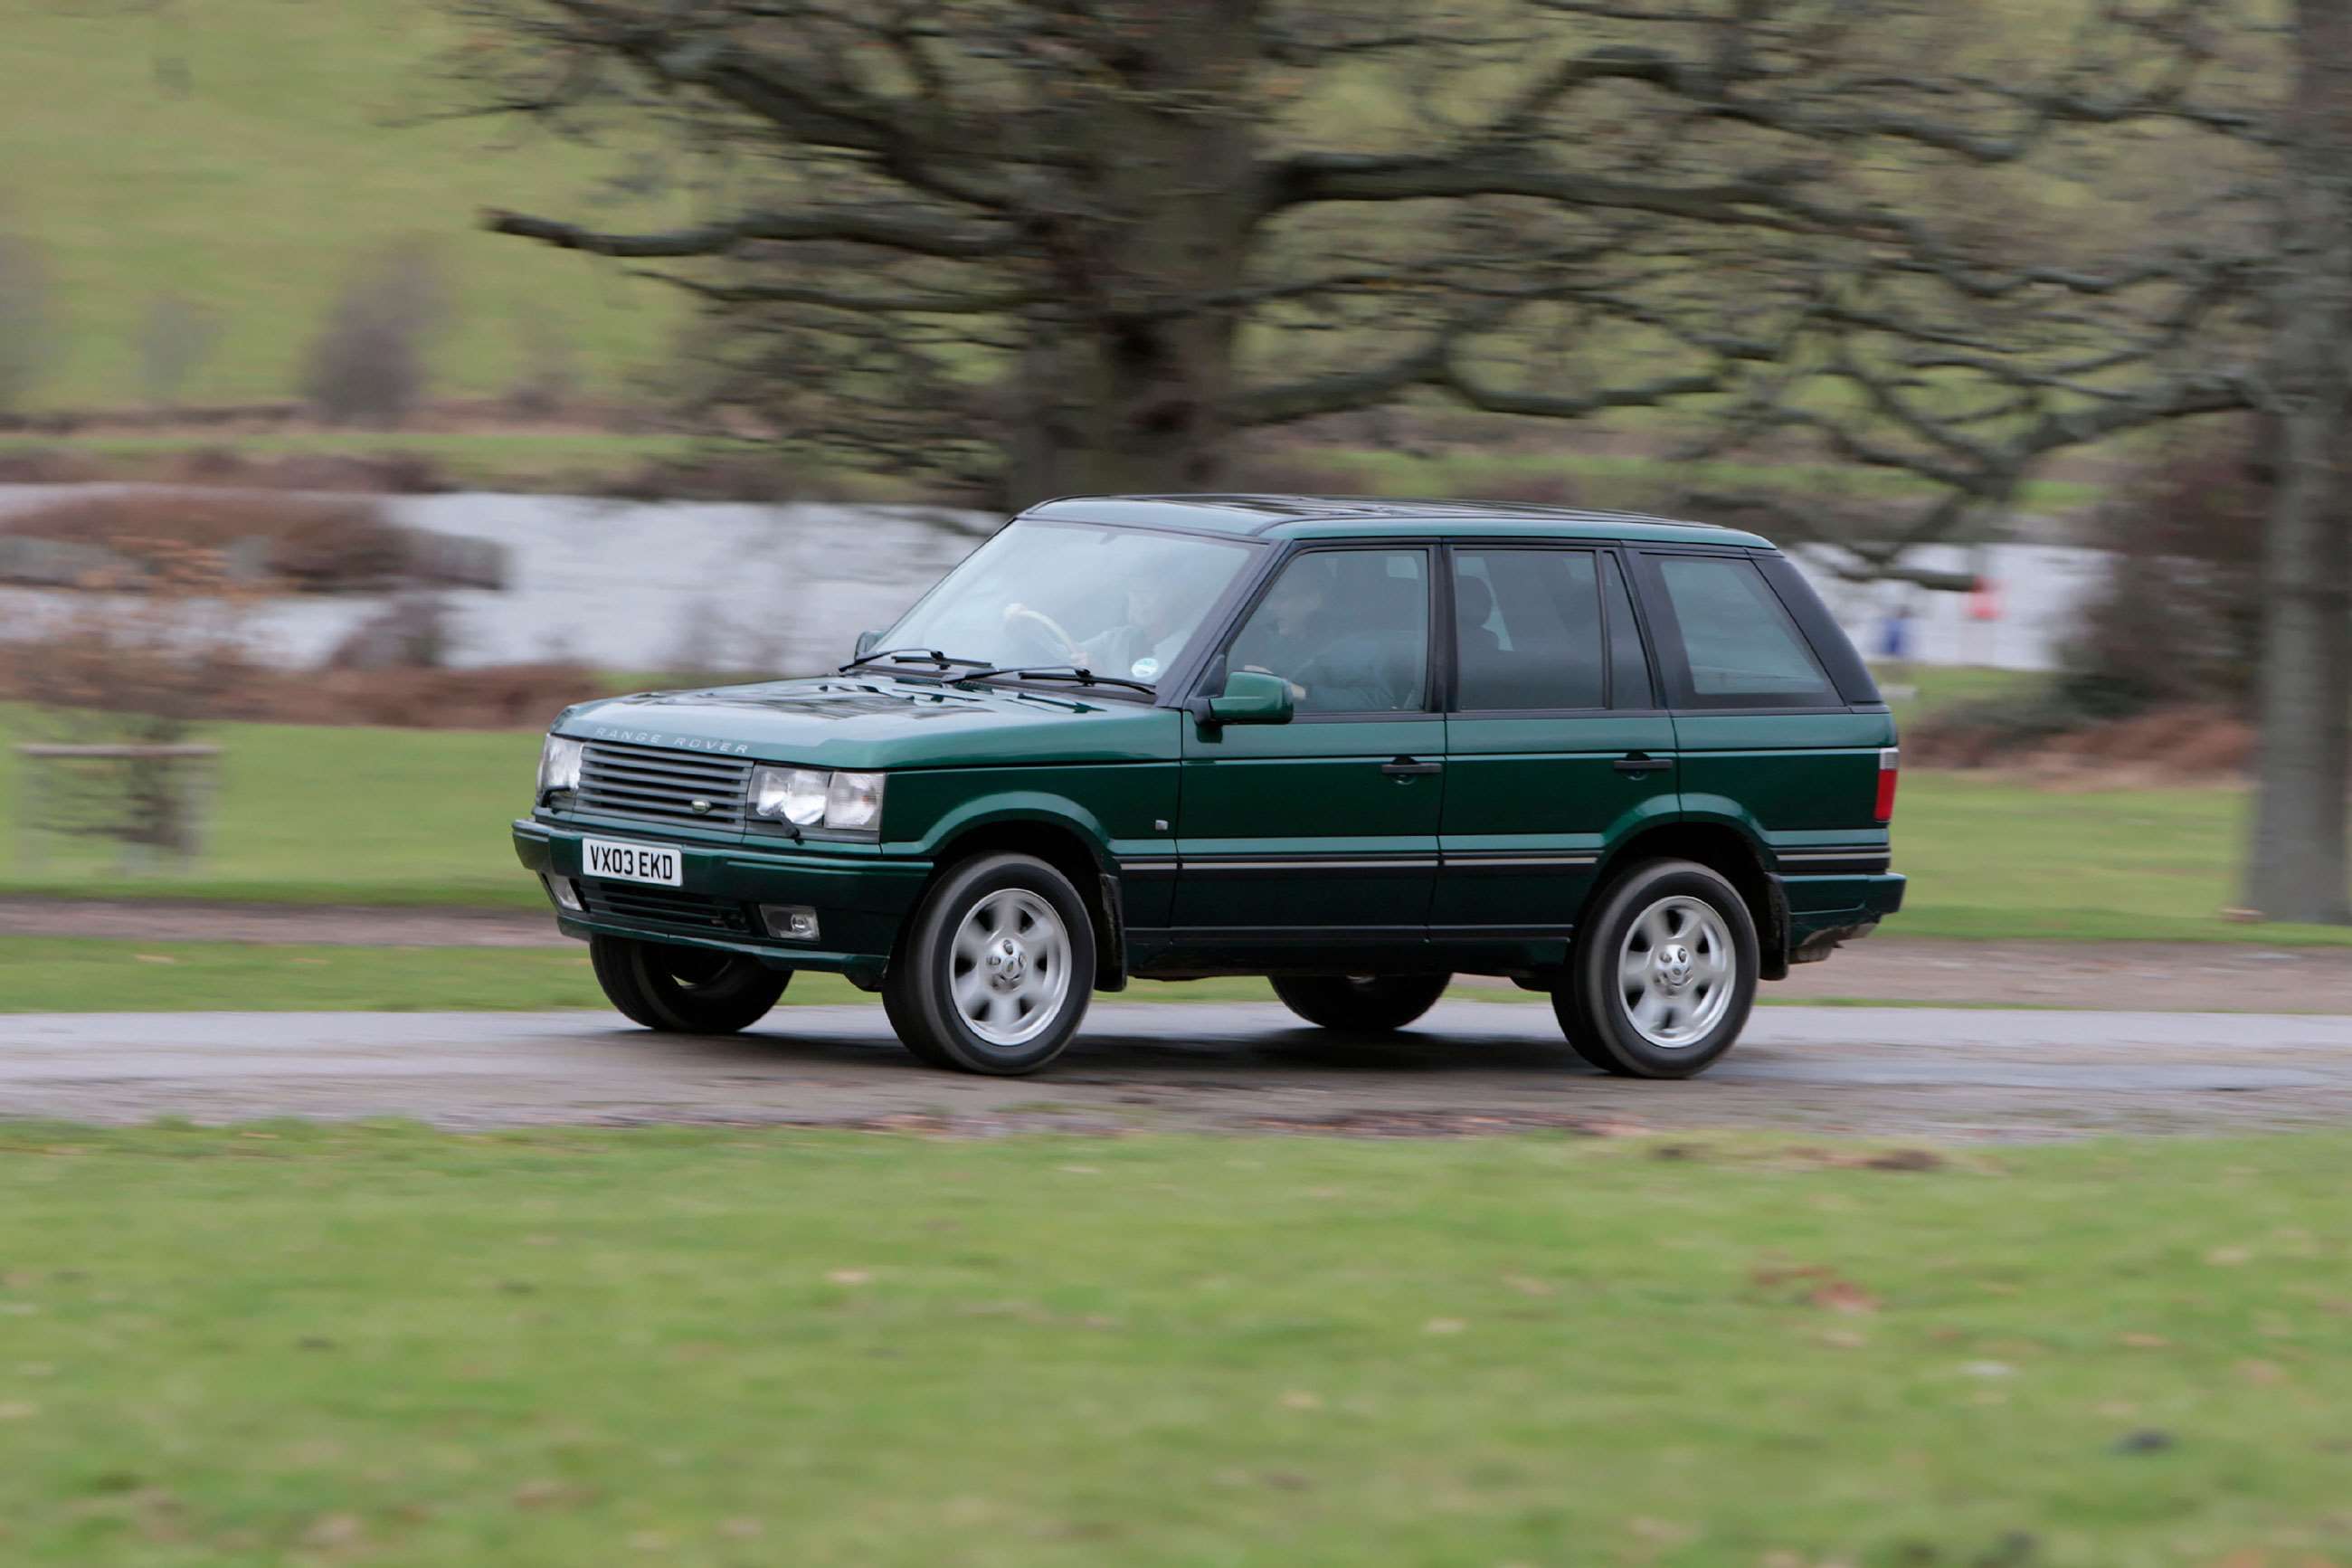
M 960 952 L 960 936 L 985 940 Z M 1004 938 L 1014 943 L 1007 964 L 1021 964 L 1000 983 L 978 954 L 997 957 Z M 1061 1056 L 1091 994 L 1094 919 L 1070 879 L 1033 856 L 981 856 L 941 877 L 882 978 L 884 1011 L 908 1051 L 995 1077 L 1037 1072 Z

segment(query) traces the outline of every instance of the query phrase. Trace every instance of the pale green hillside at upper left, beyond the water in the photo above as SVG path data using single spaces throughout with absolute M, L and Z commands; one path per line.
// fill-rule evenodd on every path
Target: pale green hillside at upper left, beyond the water
M 423 0 L 0 0 L 0 230 L 47 252 L 61 360 L 33 407 L 141 397 L 162 294 L 219 315 L 186 402 L 287 397 L 353 256 L 437 244 L 454 320 L 435 393 L 494 395 L 532 334 L 612 393 L 677 306 L 586 259 L 475 230 L 485 205 L 628 212 L 607 153 L 513 125 L 409 125 L 454 99 Z M 642 212 L 637 216 L 644 216 Z

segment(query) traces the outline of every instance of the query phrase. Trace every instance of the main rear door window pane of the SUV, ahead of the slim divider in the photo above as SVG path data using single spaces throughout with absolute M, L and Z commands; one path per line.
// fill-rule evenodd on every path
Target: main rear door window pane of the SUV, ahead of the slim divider
M 1458 550 L 1463 712 L 1602 708 L 1599 611 L 1590 550 Z

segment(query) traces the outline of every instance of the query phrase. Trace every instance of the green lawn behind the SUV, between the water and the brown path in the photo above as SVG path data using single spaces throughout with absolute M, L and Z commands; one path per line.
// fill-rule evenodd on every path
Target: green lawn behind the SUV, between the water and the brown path
M 16 820 L 24 710 L 0 708 L 0 825 Z M 122 877 L 89 856 L 0 865 L 0 891 L 543 907 L 508 820 L 536 733 L 221 724 L 212 853 L 193 877 Z M 2328 926 L 2232 924 L 2246 792 L 2039 790 L 1912 771 L 1896 806 L 1910 900 L 1889 931 L 1952 938 L 2352 943 Z M 9 853 L 9 851 L 0 851 Z

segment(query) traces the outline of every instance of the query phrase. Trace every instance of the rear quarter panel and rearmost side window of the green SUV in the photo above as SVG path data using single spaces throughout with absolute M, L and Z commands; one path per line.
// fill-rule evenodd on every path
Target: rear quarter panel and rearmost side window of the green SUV
M 1879 748 L 1893 738 L 1851 644 L 1795 567 L 1755 550 L 1639 552 L 1682 806 L 1750 827 L 1776 856 L 1870 849 Z M 1806 635 L 1802 621 L 1816 621 Z

